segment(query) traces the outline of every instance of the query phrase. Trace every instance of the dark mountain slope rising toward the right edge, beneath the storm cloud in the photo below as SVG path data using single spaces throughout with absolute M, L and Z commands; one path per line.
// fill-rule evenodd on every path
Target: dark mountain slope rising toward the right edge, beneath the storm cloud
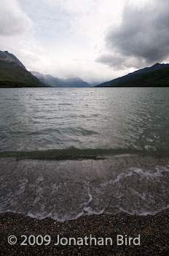
M 133 73 L 116 78 L 96 87 L 115 86 L 169 86 L 169 64 L 154 64 L 152 67 L 145 67 Z

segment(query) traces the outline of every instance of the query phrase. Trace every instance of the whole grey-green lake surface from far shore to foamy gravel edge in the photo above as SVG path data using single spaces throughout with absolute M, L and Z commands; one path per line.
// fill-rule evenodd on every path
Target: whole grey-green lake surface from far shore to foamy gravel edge
M 0 212 L 169 208 L 169 89 L 0 89 Z

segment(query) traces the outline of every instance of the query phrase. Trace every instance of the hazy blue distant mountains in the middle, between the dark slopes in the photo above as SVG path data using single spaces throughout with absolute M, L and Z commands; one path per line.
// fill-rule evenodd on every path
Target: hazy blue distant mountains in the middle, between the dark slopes
M 35 71 L 31 71 L 31 74 L 36 76 L 42 83 L 52 87 L 90 87 L 90 84 L 84 82 L 81 78 L 60 79 Z

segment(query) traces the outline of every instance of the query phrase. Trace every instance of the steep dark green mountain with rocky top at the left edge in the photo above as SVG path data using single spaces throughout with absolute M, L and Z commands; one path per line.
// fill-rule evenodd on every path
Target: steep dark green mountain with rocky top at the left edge
M 0 50 L 0 87 L 44 87 L 12 53 Z

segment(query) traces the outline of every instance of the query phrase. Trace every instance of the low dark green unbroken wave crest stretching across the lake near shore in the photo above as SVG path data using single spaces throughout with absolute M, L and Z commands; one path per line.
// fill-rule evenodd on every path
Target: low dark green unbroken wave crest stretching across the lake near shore
M 137 154 L 153 157 L 169 157 L 168 150 L 135 150 L 133 148 L 64 148 L 45 151 L 1 151 L 0 157 L 17 157 L 28 159 L 106 159 L 109 156 Z

